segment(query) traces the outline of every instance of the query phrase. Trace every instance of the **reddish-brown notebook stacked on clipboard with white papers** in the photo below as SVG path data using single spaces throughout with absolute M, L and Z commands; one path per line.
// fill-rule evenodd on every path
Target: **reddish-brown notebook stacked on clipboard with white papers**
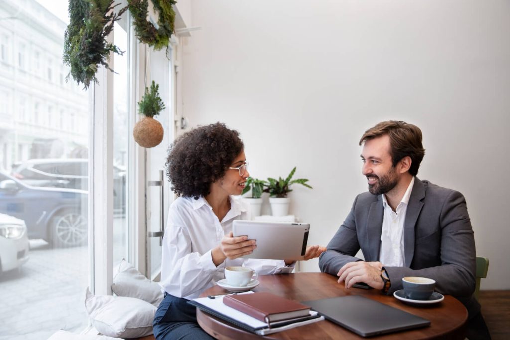
M 198 298 L 189 303 L 260 335 L 324 320 L 307 305 L 266 292 Z

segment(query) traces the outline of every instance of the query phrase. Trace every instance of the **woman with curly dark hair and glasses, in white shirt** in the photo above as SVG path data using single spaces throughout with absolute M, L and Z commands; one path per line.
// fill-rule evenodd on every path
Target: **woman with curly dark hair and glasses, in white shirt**
M 161 339 L 212 339 L 196 321 L 189 299 L 224 278 L 228 266 L 246 266 L 259 275 L 290 273 L 294 261 L 244 259 L 256 241 L 233 237 L 232 221 L 249 219 L 249 206 L 235 199 L 249 176 L 239 133 L 216 123 L 201 126 L 173 143 L 167 176 L 179 196 L 170 206 L 163 238 L 161 286 L 165 298 L 154 318 Z M 305 259 L 323 248 L 307 248 Z

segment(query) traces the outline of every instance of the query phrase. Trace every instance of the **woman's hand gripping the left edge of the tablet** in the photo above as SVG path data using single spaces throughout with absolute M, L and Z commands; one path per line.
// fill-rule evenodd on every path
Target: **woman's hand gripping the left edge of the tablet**
M 235 259 L 251 254 L 257 248 L 257 241 L 248 240 L 246 236 L 233 237 L 232 231 L 221 239 L 221 243 L 211 251 L 213 263 L 217 267 L 225 259 Z

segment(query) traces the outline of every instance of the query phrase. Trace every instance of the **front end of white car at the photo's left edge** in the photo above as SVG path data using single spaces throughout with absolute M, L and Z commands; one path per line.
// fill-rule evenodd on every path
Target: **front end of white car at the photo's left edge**
M 27 262 L 29 248 L 25 221 L 0 214 L 0 274 L 19 268 Z

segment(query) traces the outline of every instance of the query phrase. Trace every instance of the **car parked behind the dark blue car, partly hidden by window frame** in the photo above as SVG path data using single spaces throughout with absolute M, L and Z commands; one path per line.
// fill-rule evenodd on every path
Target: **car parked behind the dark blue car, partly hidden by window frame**
M 85 158 L 32 159 L 16 164 L 12 176 L 33 187 L 88 190 L 89 164 Z M 113 208 L 125 212 L 125 169 L 113 166 Z

